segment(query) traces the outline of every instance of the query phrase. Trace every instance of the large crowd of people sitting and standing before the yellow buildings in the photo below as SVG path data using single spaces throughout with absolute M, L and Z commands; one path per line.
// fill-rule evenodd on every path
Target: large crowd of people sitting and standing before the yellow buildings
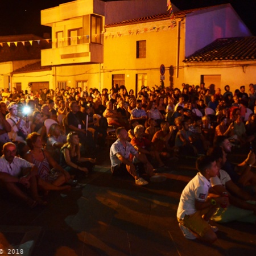
M 180 156 L 199 158 L 199 173 L 184 189 L 177 213 L 186 238 L 216 240 L 210 219 L 250 216 L 256 221 L 253 84 L 234 92 L 226 85 L 224 94 L 201 83 L 180 89 L 142 86 L 135 97 L 134 90 L 115 84 L 101 92 L 87 86 L 38 92 L 12 88 L 1 90 L 0 97 L 1 185 L 30 207 L 47 203 L 40 190 L 71 189 L 74 180 L 88 176 L 98 148 L 106 147 L 109 130 L 115 130 L 111 171 L 130 174 L 137 185 L 163 181 L 159 172 Z M 231 146 L 250 148 L 237 166 L 226 160 Z M 221 207 L 229 204 L 233 208 Z

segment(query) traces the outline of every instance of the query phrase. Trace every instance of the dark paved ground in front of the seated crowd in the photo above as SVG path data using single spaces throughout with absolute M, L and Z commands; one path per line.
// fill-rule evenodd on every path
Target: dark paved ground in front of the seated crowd
M 138 187 L 129 176 L 110 174 L 108 154 L 99 153 L 100 165 L 84 187 L 50 193 L 46 207 L 30 210 L 2 195 L 0 255 L 21 249 L 32 256 L 256 255 L 255 226 L 246 223 L 217 224 L 213 245 L 183 237 L 176 210 L 181 191 L 196 174 L 195 159 L 180 159 L 163 183 Z

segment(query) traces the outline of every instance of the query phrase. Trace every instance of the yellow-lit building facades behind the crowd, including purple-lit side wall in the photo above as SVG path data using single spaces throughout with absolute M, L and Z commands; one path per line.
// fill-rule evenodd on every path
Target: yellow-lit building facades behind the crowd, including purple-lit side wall
M 87 85 L 102 90 L 123 84 L 137 91 L 161 82 L 180 87 L 214 81 L 234 90 L 232 86 L 254 82 L 255 60 L 243 60 L 243 65 L 250 61 L 247 69 L 237 67 L 236 59 L 211 61 L 210 66 L 209 61 L 185 61 L 218 38 L 251 36 L 231 5 L 173 8 L 175 23 L 166 0 L 77 0 L 42 10 L 41 23 L 52 28 L 52 48 L 43 49 L 41 57 L 49 70 L 38 73 L 48 74 L 50 89 Z M 222 68 L 225 61 L 230 68 Z M 245 75 L 234 79 L 237 72 Z M 30 75 L 40 76 L 35 71 Z M 18 80 L 23 88 L 20 74 Z

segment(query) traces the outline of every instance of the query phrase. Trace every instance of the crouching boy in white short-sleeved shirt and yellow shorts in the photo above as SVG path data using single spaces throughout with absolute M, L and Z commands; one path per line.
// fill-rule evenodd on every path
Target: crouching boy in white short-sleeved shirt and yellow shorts
M 218 172 L 214 158 L 201 156 L 196 168 L 199 172 L 181 193 L 177 220 L 185 238 L 213 243 L 217 240 L 217 228 L 208 222 L 220 204 L 228 204 L 228 197 L 209 195 L 209 179 Z

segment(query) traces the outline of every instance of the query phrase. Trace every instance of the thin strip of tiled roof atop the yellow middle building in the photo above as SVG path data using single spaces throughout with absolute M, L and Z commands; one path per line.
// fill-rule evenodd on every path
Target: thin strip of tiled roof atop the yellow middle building
M 218 5 L 218 6 L 223 6 L 223 5 Z M 201 8 L 197 8 L 197 9 L 191 9 L 191 10 L 175 11 L 174 15 L 175 15 L 175 18 L 182 18 L 182 17 L 185 17 L 189 13 L 193 13 L 195 11 L 199 11 L 199 10 L 203 10 L 203 9 L 209 9 L 212 7 L 213 6 L 207 6 L 207 7 L 201 7 Z M 157 14 L 157 15 L 146 16 L 146 17 L 137 18 L 137 19 L 124 20 L 122 22 L 106 24 L 105 27 L 115 27 L 115 26 L 122 26 L 122 25 L 127 25 L 127 24 L 134 24 L 134 23 L 152 22 L 152 21 L 164 20 L 164 19 L 170 19 L 170 13 Z

